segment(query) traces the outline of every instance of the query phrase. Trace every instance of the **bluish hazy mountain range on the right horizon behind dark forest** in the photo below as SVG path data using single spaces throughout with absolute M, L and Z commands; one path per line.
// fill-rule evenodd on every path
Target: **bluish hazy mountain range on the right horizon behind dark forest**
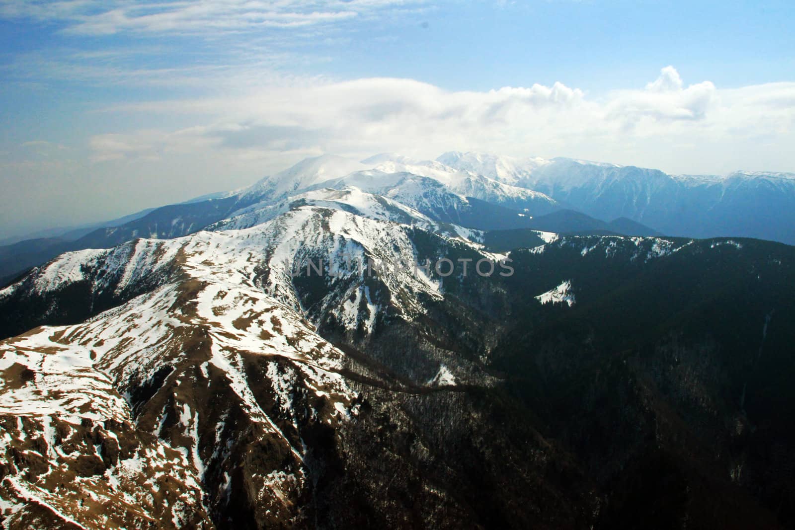
M 483 153 L 448 153 L 439 160 L 540 191 L 596 219 L 626 218 L 690 238 L 735 236 L 795 244 L 793 173 L 674 176 L 634 166 Z

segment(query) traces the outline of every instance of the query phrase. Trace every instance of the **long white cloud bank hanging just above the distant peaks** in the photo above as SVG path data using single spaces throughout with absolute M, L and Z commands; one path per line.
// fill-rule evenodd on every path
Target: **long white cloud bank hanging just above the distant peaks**
M 729 171 L 736 168 L 730 164 L 738 160 L 731 156 L 738 141 L 762 134 L 766 142 L 781 145 L 781 154 L 758 159 L 756 168 L 795 168 L 795 156 L 784 148 L 793 139 L 795 83 L 742 90 L 719 90 L 709 81 L 685 86 L 672 67 L 646 87 L 600 98 L 562 83 L 445 91 L 413 79 L 374 78 L 270 85 L 227 97 L 114 110 L 196 115 L 190 134 L 211 141 L 207 148 L 223 157 L 242 151 L 248 157 L 273 156 L 280 150 L 431 157 L 448 149 L 479 149 L 588 157 L 672 172 Z M 183 142 L 186 133 L 157 134 L 168 144 Z M 679 150 L 677 158 L 671 149 Z M 743 162 L 747 167 L 754 157 L 750 145 L 744 152 L 750 157 Z

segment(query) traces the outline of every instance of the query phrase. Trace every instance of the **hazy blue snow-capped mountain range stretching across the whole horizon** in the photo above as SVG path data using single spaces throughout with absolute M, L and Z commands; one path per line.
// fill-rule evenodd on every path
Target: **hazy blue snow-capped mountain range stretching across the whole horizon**
M 795 244 L 791 173 L 671 176 L 615 164 L 457 152 L 436 161 L 390 154 L 361 162 L 323 156 L 242 190 L 142 211 L 106 226 L 54 230 L 49 234 L 54 237 L 0 246 L 0 284 L 63 252 L 110 248 L 139 237 L 176 238 L 222 226 L 216 223 L 302 192 L 345 186 L 390 196 L 435 221 L 477 230 L 601 230 Z M 570 212 L 558 217 L 529 219 L 566 210 Z M 245 224 L 242 218 L 236 223 Z

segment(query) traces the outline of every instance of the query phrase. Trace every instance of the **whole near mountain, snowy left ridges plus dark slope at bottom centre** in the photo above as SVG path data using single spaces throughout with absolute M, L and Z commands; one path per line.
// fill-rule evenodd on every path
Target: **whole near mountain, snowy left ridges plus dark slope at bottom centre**
M 346 254 L 353 263 L 387 265 L 493 257 L 479 248 L 417 226 L 296 205 L 246 230 L 136 240 L 64 254 L 37 269 L 0 292 L 4 335 L 47 326 L 0 343 L 3 439 L 16 440 L 3 450 L 28 451 L 25 444 L 39 440 L 33 447 L 41 455 L 5 468 L 0 496 L 13 507 L 6 523 L 99 528 L 135 513 L 160 528 L 451 525 L 486 521 L 495 505 L 507 520 L 513 501 L 499 498 L 502 488 L 499 497 L 497 489 L 483 497 L 479 484 L 462 487 L 472 474 L 536 492 L 537 506 L 582 519 L 570 506 L 585 502 L 585 489 L 550 490 L 541 486 L 550 481 L 539 481 L 560 466 L 578 476 L 576 469 L 522 456 L 528 446 L 558 450 L 522 422 L 495 430 L 487 419 L 505 414 L 506 405 L 466 392 L 493 385 L 475 347 L 493 342 L 494 331 L 450 324 L 491 319 L 489 304 L 460 307 L 442 292 L 459 285 L 471 298 L 486 295 L 486 286 L 448 284 L 432 271 L 346 266 Z M 312 257 L 328 259 L 337 274 L 293 274 Z M 68 369 L 50 369 L 42 356 Z M 49 383 L 53 377 L 60 382 Z M 93 397 L 118 406 L 87 406 L 93 390 L 81 377 L 101 380 L 103 392 Z M 59 391 L 72 388 L 85 394 Z M 36 401 L 28 403 L 31 395 Z M 58 408 L 64 400 L 73 408 Z M 429 411 L 436 411 L 430 424 Z M 16 417 L 32 420 L 21 431 Z M 109 427 L 111 420 L 126 429 L 123 451 L 69 437 L 83 426 L 99 439 L 121 440 L 122 427 Z M 479 434 L 467 441 L 462 429 Z M 498 454 L 477 457 L 486 439 L 497 441 Z M 150 453 L 169 458 L 169 467 Z M 160 486 L 165 481 L 171 489 Z M 128 487 L 126 509 L 95 522 L 99 506 Z M 395 505 L 388 492 L 406 501 Z M 165 500 L 153 505 L 155 494 Z M 425 508 L 405 504 L 406 495 Z M 543 519 L 532 509 L 518 521 Z

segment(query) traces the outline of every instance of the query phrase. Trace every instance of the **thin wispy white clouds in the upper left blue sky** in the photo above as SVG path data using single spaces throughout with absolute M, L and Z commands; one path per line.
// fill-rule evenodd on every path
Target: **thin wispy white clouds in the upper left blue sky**
M 0 0 L 0 19 L 60 36 L 6 52 L 0 75 L 17 85 L 170 91 L 301 83 L 297 69 L 332 60 L 318 47 L 427 9 L 425 0 Z

